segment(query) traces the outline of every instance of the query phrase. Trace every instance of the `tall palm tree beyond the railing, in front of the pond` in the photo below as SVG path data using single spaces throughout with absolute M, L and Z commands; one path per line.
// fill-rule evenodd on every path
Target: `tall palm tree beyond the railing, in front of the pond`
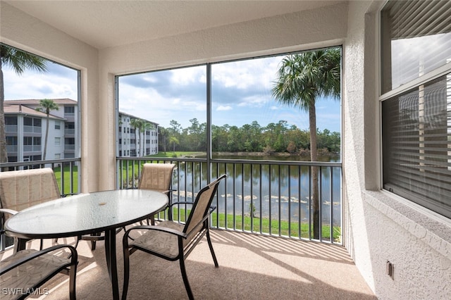
M 316 161 L 316 108 L 320 96 L 340 97 L 340 49 L 330 48 L 283 58 L 272 94 L 276 101 L 309 112 L 310 160 Z M 319 239 L 318 167 L 311 168 L 314 238 Z

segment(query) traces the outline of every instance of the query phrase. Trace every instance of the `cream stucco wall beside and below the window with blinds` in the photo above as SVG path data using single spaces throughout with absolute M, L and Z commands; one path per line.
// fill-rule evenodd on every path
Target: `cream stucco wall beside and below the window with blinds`
M 382 192 L 378 8 L 353 1 L 345 42 L 345 246 L 378 299 L 451 299 L 451 222 Z M 386 261 L 395 265 L 394 279 Z

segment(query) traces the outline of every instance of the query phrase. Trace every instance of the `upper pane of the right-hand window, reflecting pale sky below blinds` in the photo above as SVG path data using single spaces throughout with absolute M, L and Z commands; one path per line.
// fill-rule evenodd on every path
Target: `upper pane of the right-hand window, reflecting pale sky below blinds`
M 451 1 L 389 1 L 381 12 L 382 93 L 451 62 Z

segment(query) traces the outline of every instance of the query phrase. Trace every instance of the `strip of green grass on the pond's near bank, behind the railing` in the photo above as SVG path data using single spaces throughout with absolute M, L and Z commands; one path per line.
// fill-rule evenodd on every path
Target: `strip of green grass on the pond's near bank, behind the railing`
M 189 213 L 188 210 L 186 213 Z M 174 220 L 178 220 L 178 209 L 174 208 L 173 210 Z M 164 214 L 160 213 L 160 217 L 164 218 Z M 212 213 L 211 214 L 211 223 L 216 226 L 217 218 L 219 218 L 219 227 L 226 228 L 226 214 L 224 213 Z M 185 209 L 180 208 L 180 220 L 182 222 L 185 221 Z M 244 222 L 244 229 L 242 227 L 242 223 Z M 251 222 L 253 230 L 251 230 Z M 269 233 L 269 218 L 251 218 L 248 215 L 245 215 L 244 220 L 242 215 L 235 216 L 235 229 L 236 230 L 244 230 L 249 232 L 260 232 L 260 223 L 261 223 L 261 232 Z M 233 229 L 233 215 L 227 215 L 227 228 Z M 307 223 L 301 224 L 301 237 L 309 238 L 309 225 Z M 290 230 L 290 235 L 289 235 Z M 271 220 L 271 234 L 278 235 L 279 232 L 279 223 L 278 220 Z M 292 222 L 291 225 L 288 221 L 280 221 L 280 235 L 290 236 L 290 237 L 299 237 L 299 223 Z M 311 236 L 313 237 L 313 228 L 311 228 Z M 324 240 L 330 240 L 330 226 L 323 225 L 322 227 L 322 238 Z M 338 226 L 333 227 L 333 241 L 340 242 L 341 239 L 341 229 Z

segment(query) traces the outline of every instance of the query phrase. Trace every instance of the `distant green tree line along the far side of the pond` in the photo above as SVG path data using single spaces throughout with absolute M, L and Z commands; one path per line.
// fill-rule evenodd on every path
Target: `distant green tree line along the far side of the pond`
M 177 121 L 171 120 L 170 127 L 160 127 L 159 151 L 205 151 L 206 123 L 199 123 L 197 118 L 191 119 L 190 123 L 190 126 L 183 128 Z M 288 125 L 285 120 L 266 126 L 259 125 L 257 121 L 241 127 L 212 125 L 211 130 L 214 151 L 303 154 L 310 150 L 309 130 Z M 317 129 L 316 139 L 316 149 L 340 152 L 339 132 Z

